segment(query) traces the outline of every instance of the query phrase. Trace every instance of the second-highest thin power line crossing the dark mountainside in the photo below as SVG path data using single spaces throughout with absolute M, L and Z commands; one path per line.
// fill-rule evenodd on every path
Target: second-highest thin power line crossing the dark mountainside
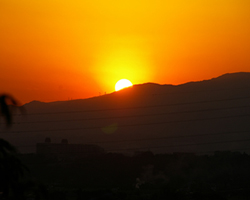
M 195 112 L 219 111 L 219 110 L 238 109 L 238 108 L 250 108 L 250 106 L 232 106 L 232 107 L 224 107 L 224 108 L 211 108 L 211 109 L 199 109 L 199 110 L 188 110 L 188 111 L 175 111 L 175 112 L 154 113 L 154 114 L 137 114 L 137 115 L 126 115 L 126 116 L 114 116 L 114 117 L 93 117 L 93 118 L 66 119 L 66 120 L 14 122 L 13 124 L 33 124 L 33 123 L 52 123 L 52 122 L 54 123 L 54 122 L 84 121 L 84 120 L 123 119 L 123 118 L 132 118 L 132 117 L 148 117 L 148 116 L 162 116 L 162 115 L 185 114 L 185 113 L 195 113 Z

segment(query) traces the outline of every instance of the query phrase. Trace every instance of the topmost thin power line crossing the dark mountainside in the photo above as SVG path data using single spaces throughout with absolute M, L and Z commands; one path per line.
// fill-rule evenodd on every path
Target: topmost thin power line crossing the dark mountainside
M 199 103 L 234 101 L 234 100 L 242 100 L 242 99 L 249 99 L 249 98 L 250 96 L 245 96 L 245 97 L 235 97 L 235 98 L 217 99 L 217 100 L 204 100 L 204 101 L 186 102 L 186 103 L 170 103 L 170 104 L 161 104 L 161 105 L 134 106 L 134 107 L 123 107 L 123 108 L 104 108 L 104 109 L 91 109 L 91 110 L 81 110 L 81 111 L 30 113 L 28 115 L 49 115 L 49 114 L 67 114 L 67 113 L 71 114 L 71 113 L 115 111 L 115 110 L 126 110 L 126 109 L 156 108 L 156 107 L 166 107 L 166 106 L 192 105 L 192 104 L 199 104 Z M 21 114 L 16 114 L 16 115 L 20 116 Z

